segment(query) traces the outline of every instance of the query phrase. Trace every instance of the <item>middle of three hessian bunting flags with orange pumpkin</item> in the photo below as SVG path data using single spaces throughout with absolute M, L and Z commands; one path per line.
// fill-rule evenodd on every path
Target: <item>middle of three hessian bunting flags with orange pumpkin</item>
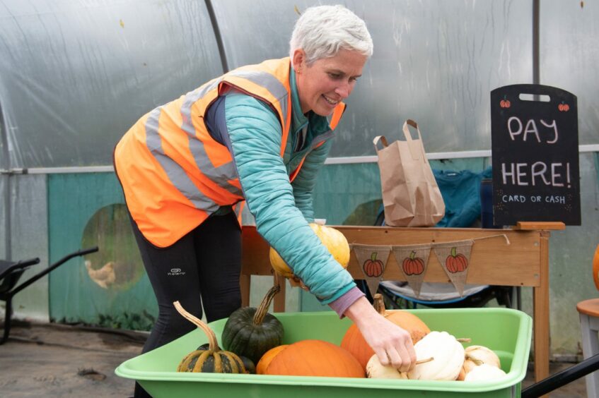
M 421 245 L 392 246 L 395 261 L 400 267 L 407 284 L 418 298 L 424 282 L 426 267 L 429 265 L 431 243 Z

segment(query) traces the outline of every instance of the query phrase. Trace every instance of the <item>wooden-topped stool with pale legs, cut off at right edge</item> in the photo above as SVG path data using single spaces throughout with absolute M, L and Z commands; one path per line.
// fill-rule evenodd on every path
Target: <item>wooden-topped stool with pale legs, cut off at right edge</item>
M 581 318 L 582 352 L 584 358 L 599 354 L 599 298 L 581 301 L 576 304 Z M 586 375 L 586 394 L 599 397 L 599 372 Z

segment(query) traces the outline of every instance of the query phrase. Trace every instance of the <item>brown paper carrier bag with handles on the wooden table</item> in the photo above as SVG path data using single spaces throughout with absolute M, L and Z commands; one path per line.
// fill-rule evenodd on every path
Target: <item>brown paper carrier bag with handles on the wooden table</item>
M 412 139 L 409 126 L 416 128 Z M 415 121 L 403 126 L 406 140 L 391 145 L 383 135 L 374 138 L 383 191 L 385 224 L 391 227 L 432 227 L 445 215 L 445 203 L 426 159 L 420 129 Z M 378 149 L 378 142 L 383 149 Z

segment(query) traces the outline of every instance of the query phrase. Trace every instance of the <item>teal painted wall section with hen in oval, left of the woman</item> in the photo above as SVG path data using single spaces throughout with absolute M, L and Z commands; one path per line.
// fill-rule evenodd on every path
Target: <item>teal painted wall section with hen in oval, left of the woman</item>
M 149 329 L 156 319 L 156 299 L 134 246 L 127 213 L 122 211 L 123 202 L 114 174 L 50 176 L 51 261 L 79 248 L 100 248 L 50 273 L 51 319 L 140 330 Z M 107 265 L 111 261 L 112 270 Z M 101 275 L 101 269 L 109 275 Z

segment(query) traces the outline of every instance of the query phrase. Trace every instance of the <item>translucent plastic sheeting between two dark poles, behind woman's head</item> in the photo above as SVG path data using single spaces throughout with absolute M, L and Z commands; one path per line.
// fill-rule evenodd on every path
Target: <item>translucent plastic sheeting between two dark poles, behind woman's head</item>
M 295 6 L 337 3 L 214 1 L 228 66 L 287 56 Z M 374 54 L 347 100 L 331 156 L 375 155 L 373 138 L 400 138 L 405 119 L 419 123 L 427 152 L 490 149 L 489 93 L 533 83 L 532 1 L 343 4 L 366 21 Z

